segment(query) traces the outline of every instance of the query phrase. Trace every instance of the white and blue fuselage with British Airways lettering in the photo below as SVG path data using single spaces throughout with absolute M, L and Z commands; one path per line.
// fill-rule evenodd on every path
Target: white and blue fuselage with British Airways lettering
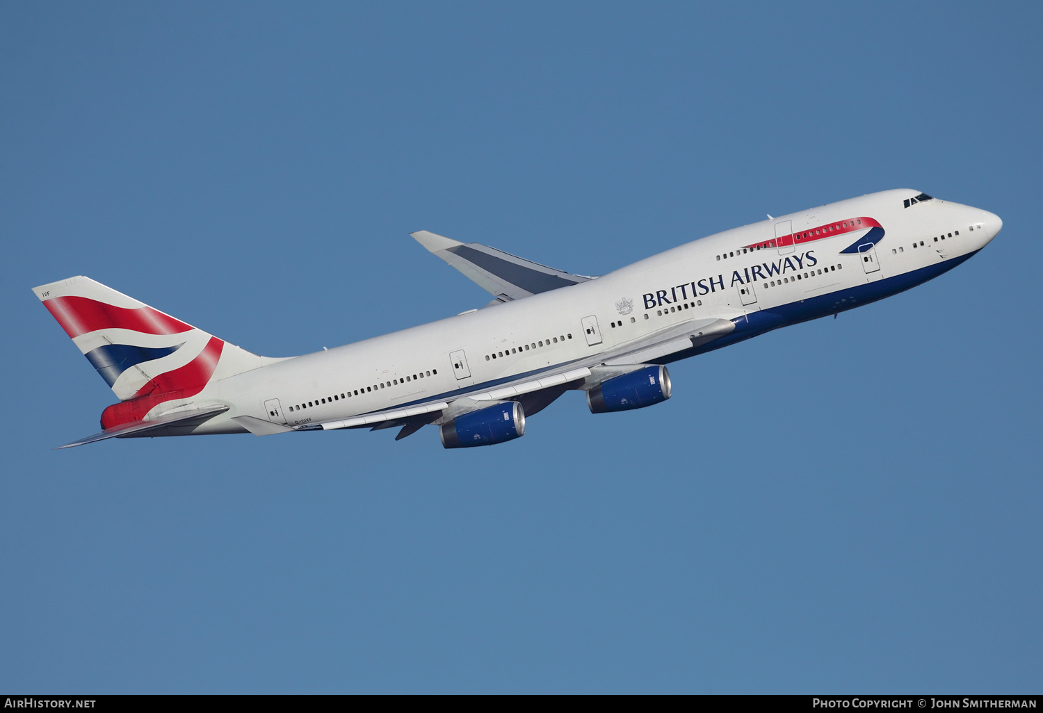
M 672 321 L 735 322 L 727 338 L 665 361 L 683 359 L 906 290 L 966 260 L 1001 225 L 991 213 L 939 199 L 905 207 L 915 195 L 886 191 L 745 225 L 587 282 L 215 380 L 195 400 L 231 409 L 195 433 L 242 433 L 232 420 L 240 415 L 293 426 L 452 399 L 588 360 Z M 842 252 L 867 233 L 855 223 L 863 217 L 883 237 L 867 252 Z M 833 225 L 836 235 L 824 227 Z M 825 235 L 776 244 L 786 229 L 803 236 L 817 227 Z

